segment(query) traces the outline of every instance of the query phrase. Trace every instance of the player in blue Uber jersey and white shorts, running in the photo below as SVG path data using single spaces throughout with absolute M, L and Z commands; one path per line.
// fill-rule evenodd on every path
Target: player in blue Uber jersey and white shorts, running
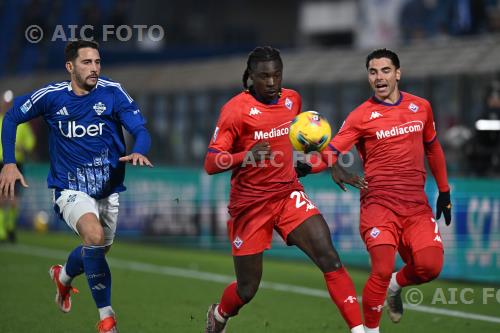
M 82 240 L 64 266 L 50 268 L 57 287 L 56 303 L 63 312 L 70 311 L 70 293 L 75 291 L 71 281 L 85 273 L 99 309 L 98 330 L 114 333 L 118 331 L 105 253 L 115 236 L 119 192 L 125 190 L 125 164 L 152 167 L 145 157 L 151 138 L 139 108 L 121 85 L 99 78 L 97 43 L 70 42 L 65 58 L 70 81 L 17 98 L 5 115 L 0 191 L 2 196 L 12 198 L 16 181 L 28 187 L 15 164 L 16 128 L 42 116 L 49 126 L 47 182 L 54 191 L 54 207 Z M 126 155 L 122 126 L 135 139 L 130 155 Z

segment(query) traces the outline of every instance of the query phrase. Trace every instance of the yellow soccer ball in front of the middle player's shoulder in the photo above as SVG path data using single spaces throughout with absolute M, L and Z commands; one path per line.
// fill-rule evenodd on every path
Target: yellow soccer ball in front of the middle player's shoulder
M 328 121 L 316 111 L 304 111 L 293 118 L 288 132 L 290 142 L 297 151 L 322 151 L 332 139 Z

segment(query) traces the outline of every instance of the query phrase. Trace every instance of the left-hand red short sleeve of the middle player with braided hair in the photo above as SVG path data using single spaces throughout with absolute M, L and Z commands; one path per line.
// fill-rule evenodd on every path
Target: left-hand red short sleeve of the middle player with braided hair
M 234 106 L 225 105 L 220 113 L 217 125 L 214 130 L 210 144 L 209 152 L 229 152 L 233 153 L 233 145 L 240 135 L 241 126 L 238 110 Z

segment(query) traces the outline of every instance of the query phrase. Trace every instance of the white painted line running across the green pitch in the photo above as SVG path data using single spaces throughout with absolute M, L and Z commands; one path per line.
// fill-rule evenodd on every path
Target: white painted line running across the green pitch
M 58 259 L 58 260 L 65 260 L 65 258 L 68 255 L 67 252 L 62 250 L 54 250 L 46 247 L 30 246 L 22 244 L 18 244 L 15 246 L 0 247 L 0 251 L 8 251 L 35 257 Z M 122 259 L 108 258 L 108 263 L 112 267 L 121 268 L 125 270 L 162 274 L 162 275 L 176 276 L 182 278 L 191 278 L 191 279 L 210 281 L 210 282 L 229 283 L 231 281 L 234 281 L 235 279 L 233 276 L 229 275 L 202 272 L 192 269 L 184 269 L 171 266 L 160 266 L 160 265 L 147 264 L 137 261 L 122 260 Z M 262 281 L 260 286 L 261 288 L 270 289 L 274 291 L 284 291 L 305 296 L 330 298 L 328 292 L 321 289 L 300 287 L 291 284 L 266 282 L 266 281 Z M 425 305 L 408 305 L 408 304 L 406 305 L 407 305 L 406 309 L 418 312 L 439 314 L 443 316 L 463 318 L 463 319 L 480 320 L 490 323 L 500 323 L 500 317 L 486 316 L 486 315 L 480 315 L 463 311 L 439 309 L 436 307 L 425 306 Z

